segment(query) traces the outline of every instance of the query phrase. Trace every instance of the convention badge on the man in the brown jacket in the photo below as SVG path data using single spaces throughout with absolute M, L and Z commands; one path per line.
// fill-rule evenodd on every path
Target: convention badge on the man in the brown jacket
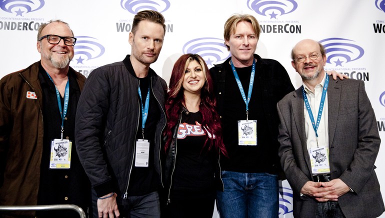
M 71 166 L 71 146 L 68 139 L 53 139 L 51 142 L 50 169 L 69 169 Z

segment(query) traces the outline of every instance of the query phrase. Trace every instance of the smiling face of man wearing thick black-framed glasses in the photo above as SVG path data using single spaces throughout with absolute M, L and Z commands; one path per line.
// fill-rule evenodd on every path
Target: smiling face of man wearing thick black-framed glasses
M 62 22 L 51 22 L 47 24 L 41 31 L 39 37 L 47 34 L 55 34 L 59 36 L 72 36 L 71 29 Z M 47 38 L 37 41 L 37 50 L 40 52 L 41 64 L 49 68 L 66 68 L 69 61 L 72 60 L 74 52 L 73 46 L 64 44 L 60 40 L 58 44 L 51 44 Z

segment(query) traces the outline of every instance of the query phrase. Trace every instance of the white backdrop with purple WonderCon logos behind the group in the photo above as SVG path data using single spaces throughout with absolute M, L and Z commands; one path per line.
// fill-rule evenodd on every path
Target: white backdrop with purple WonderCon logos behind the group
M 301 79 L 290 64 L 292 46 L 303 38 L 322 41 L 326 70 L 365 81 L 385 139 L 385 0 L 0 0 L 0 77 L 39 60 L 37 27 L 50 19 L 69 23 L 77 38 L 70 65 L 85 76 L 98 66 L 120 61 L 130 52 L 128 32 L 134 14 L 142 9 L 157 10 L 166 19 L 163 48 L 151 67 L 167 82 L 174 61 L 183 53 L 200 54 L 209 67 L 228 57 L 223 24 L 233 13 L 258 19 L 262 32 L 256 53 L 278 60 L 294 87 L 301 85 Z M 382 196 L 384 157 L 381 147 L 376 172 Z M 280 217 L 292 217 L 286 181 L 281 190 Z

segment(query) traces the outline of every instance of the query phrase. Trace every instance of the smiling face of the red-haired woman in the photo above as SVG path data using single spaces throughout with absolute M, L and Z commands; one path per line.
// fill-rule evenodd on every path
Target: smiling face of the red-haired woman
M 200 95 L 200 89 L 205 82 L 204 72 L 202 66 L 196 60 L 192 60 L 188 63 L 183 77 L 183 93 Z

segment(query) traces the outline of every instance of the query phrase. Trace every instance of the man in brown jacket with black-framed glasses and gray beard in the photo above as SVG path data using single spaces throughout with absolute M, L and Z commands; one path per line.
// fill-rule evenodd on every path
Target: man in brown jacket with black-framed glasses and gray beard
M 0 80 L 0 205 L 76 204 L 92 215 L 90 182 L 74 143 L 75 112 L 85 77 L 69 66 L 73 36 L 61 20 L 41 24 L 36 42 L 41 59 Z M 77 214 L 0 214 L 34 215 Z

